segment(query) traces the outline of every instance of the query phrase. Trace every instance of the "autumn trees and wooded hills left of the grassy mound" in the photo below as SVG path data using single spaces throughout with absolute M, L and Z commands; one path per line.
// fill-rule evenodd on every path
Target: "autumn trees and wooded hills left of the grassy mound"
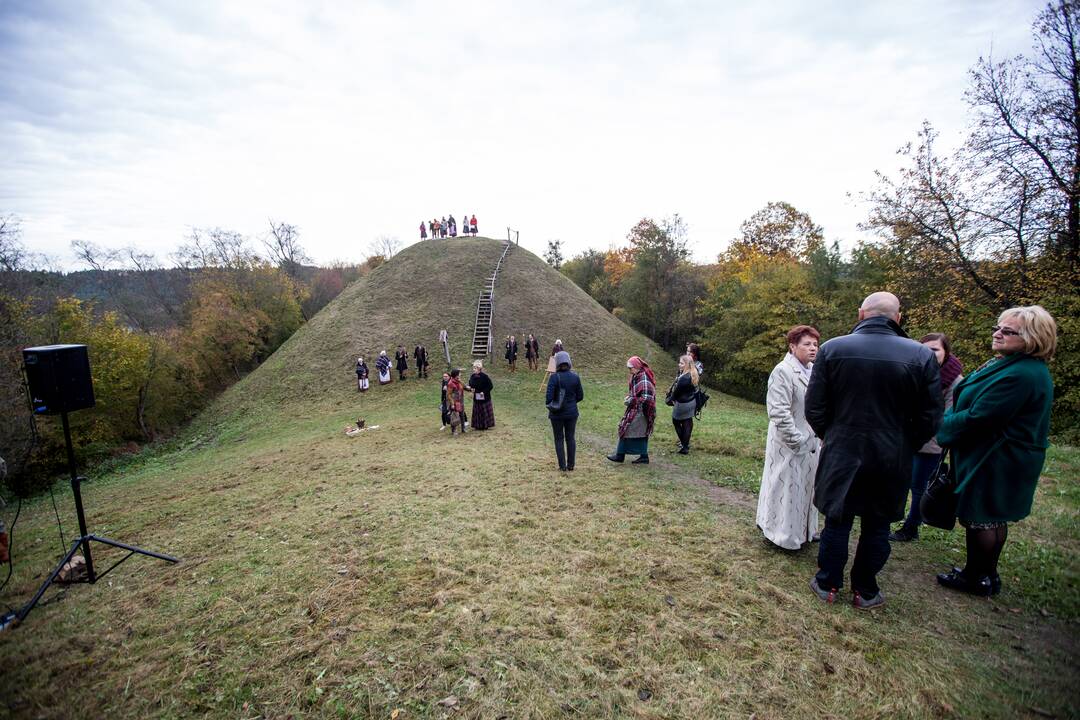
M 90 347 L 96 406 L 70 420 L 93 462 L 173 433 L 386 259 L 312 267 L 284 222 L 260 240 L 261 253 L 238 232 L 195 228 L 172 267 L 76 241 L 90 271 L 72 284 L 26 249 L 17 218 L 0 218 L 0 457 L 12 489 L 33 491 L 64 463 L 58 421 L 29 411 L 23 348 Z

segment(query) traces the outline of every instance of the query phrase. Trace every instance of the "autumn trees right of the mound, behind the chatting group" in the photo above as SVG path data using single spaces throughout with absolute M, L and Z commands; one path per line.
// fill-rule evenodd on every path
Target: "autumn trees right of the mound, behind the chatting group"
M 783 202 L 747 218 L 715 264 L 689 259 L 677 216 L 644 219 L 627 243 L 545 258 L 662 347 L 700 339 L 711 381 L 760 400 L 793 325 L 850 331 L 862 298 L 895 293 L 915 336 L 947 332 L 972 370 L 998 313 L 1041 304 L 1057 320 L 1054 431 L 1080 437 L 1080 53 L 1077 3 L 1048 4 L 1032 50 L 982 57 L 964 95 L 970 132 L 943 152 L 923 123 L 899 174 L 861 193 L 874 240 L 841 253 Z

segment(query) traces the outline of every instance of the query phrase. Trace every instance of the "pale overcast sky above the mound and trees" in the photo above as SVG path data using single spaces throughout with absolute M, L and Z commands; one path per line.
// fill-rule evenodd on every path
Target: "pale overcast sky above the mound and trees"
M 0 0 L 0 215 L 165 259 L 300 228 L 319 262 L 423 218 L 570 256 L 680 214 L 710 261 L 773 200 L 849 244 L 923 119 L 1042 2 Z

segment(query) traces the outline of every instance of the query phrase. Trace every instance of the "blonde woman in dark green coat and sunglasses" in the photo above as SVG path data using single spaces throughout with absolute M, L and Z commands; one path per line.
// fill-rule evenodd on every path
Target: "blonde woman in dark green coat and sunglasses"
M 982 596 L 1001 590 L 998 557 L 1008 524 L 1031 512 L 1047 459 L 1054 399 L 1047 362 L 1056 345 L 1057 325 L 1041 307 L 1007 310 L 994 327 L 996 357 L 954 391 L 937 441 L 953 456 L 968 562 L 937 575 L 945 587 Z

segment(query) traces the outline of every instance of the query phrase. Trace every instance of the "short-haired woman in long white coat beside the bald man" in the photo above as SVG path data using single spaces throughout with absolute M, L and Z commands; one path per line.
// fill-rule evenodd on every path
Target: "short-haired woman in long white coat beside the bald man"
M 795 551 L 818 532 L 813 478 L 821 441 L 807 422 L 805 404 L 821 334 L 809 325 L 787 332 L 787 355 L 769 376 L 769 436 L 757 497 L 757 527 L 766 539 Z

